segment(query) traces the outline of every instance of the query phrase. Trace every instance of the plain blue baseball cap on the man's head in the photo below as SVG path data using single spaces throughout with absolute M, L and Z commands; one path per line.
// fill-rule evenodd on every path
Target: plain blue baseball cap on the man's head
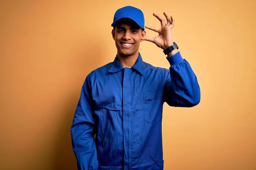
M 140 9 L 133 6 L 125 6 L 118 9 L 114 15 L 113 23 L 111 26 L 115 26 L 116 23 L 122 18 L 129 18 L 133 20 L 140 26 L 140 28 L 144 30 L 145 20 L 143 12 Z

